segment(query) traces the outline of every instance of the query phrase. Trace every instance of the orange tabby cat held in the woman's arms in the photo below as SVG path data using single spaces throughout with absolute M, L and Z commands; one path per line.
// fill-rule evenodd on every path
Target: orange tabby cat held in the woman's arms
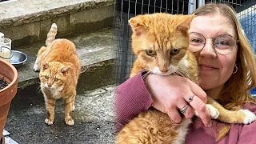
M 144 69 L 153 74 L 178 74 L 198 83 L 198 64 L 194 54 L 187 50 L 192 18 L 193 15 L 171 14 L 130 18 L 132 48 L 137 55 L 130 77 Z M 207 103 L 210 116 L 222 122 L 248 124 L 256 119 L 249 110 L 225 110 L 212 98 L 208 98 Z M 176 124 L 167 114 L 152 108 L 126 124 L 117 135 L 117 143 L 184 143 L 190 122 L 183 118 L 180 124 Z

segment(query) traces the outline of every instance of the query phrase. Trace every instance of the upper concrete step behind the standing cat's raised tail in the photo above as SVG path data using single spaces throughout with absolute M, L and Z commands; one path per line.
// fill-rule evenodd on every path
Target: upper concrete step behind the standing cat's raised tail
M 45 41 L 53 22 L 66 38 L 113 25 L 114 0 L 10 0 L 0 2 L 0 31 L 14 47 Z

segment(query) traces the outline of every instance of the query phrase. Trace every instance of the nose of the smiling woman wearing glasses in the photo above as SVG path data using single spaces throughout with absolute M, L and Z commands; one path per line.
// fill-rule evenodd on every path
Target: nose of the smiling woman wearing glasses
M 214 50 L 214 42 L 212 39 L 206 39 L 206 44 L 202 48 L 200 55 L 207 58 L 216 58 L 217 54 Z

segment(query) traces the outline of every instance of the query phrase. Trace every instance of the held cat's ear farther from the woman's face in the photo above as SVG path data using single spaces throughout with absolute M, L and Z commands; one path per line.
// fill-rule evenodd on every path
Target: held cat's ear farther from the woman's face
M 134 34 L 141 35 L 145 34 L 148 30 L 148 25 L 146 22 L 143 22 L 143 16 L 138 15 L 134 18 L 130 18 L 129 20 L 131 30 L 133 30 Z

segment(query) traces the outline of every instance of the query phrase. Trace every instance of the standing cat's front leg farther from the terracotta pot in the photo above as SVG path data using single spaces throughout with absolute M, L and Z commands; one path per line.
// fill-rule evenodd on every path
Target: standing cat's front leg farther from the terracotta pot
M 74 120 L 71 117 L 71 112 L 74 111 L 74 96 L 66 98 L 66 108 L 65 108 L 65 122 L 66 125 L 73 126 Z

